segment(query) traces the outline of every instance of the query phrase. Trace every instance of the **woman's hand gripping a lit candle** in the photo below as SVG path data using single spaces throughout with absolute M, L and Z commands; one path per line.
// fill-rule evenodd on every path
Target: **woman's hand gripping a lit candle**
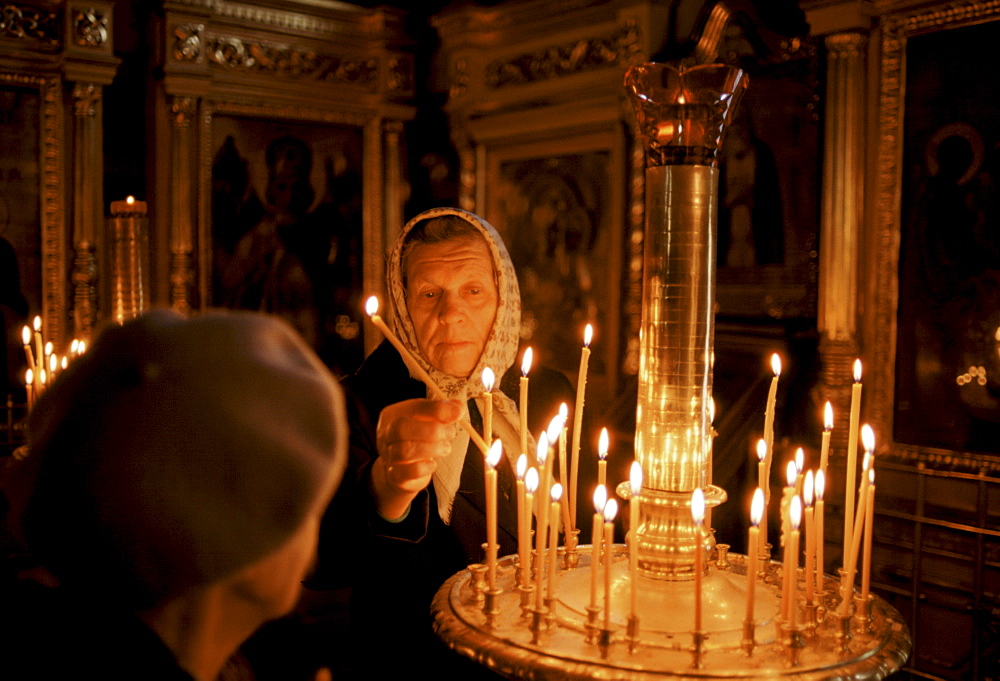
M 375 504 L 384 518 L 401 518 L 431 481 L 439 460 L 451 454 L 455 400 L 413 399 L 382 410 L 375 429 L 378 458 L 372 464 Z

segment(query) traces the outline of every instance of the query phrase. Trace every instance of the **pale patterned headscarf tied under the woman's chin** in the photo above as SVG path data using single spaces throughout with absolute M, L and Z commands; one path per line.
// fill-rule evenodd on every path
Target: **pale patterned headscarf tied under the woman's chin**
M 405 272 L 402 269 L 403 244 L 406 241 L 406 235 L 421 222 L 447 215 L 465 220 L 486 240 L 493 258 L 493 270 L 497 283 L 497 312 L 493 320 L 493 328 L 486 338 L 483 354 L 479 357 L 475 369 L 468 378 L 446 374 L 424 357 L 420 351 L 420 344 L 417 342 L 413 320 L 406 307 Z M 437 382 L 446 395 L 463 403 L 469 399 L 475 399 L 480 412 L 482 412 L 483 369 L 489 367 L 496 374 L 496 381 L 491 393 L 493 396 L 494 437 L 499 437 L 503 442 L 506 465 L 513 469 L 512 459 L 517 458 L 520 449 L 517 406 L 512 399 L 500 391 L 499 386 L 503 375 L 514 364 L 517 356 L 518 335 L 521 327 L 521 290 L 517 284 L 514 264 L 511 262 L 510 254 L 507 253 L 507 247 L 504 246 L 500 235 L 486 220 L 458 208 L 432 208 L 424 211 L 406 223 L 397 237 L 392 252 L 389 254 L 386 278 L 390 301 L 389 323 L 393 332 L 409 350 L 413 361 L 420 364 L 420 367 Z M 407 358 L 404 357 L 404 361 L 407 361 Z M 414 375 L 412 367 L 410 373 Z M 428 390 L 428 397 L 434 397 L 430 390 Z M 468 418 L 467 412 L 463 414 L 463 418 Z M 529 451 L 533 452 L 534 444 L 530 440 L 531 436 L 529 435 Z M 465 464 L 465 453 L 468 445 L 468 434 L 456 426 L 451 456 L 440 461 L 434 473 L 433 483 L 434 491 L 438 497 L 438 511 L 445 523 L 449 523 L 451 520 L 451 506 L 461 480 L 462 466 Z

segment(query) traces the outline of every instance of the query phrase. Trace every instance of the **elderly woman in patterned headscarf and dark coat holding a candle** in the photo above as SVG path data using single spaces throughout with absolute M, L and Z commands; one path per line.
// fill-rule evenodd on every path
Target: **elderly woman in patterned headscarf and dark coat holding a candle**
M 514 465 L 521 449 L 518 404 L 508 397 L 518 397 L 520 372 L 508 369 L 518 352 L 520 294 L 493 227 L 451 208 L 418 215 L 389 256 L 387 284 L 394 333 L 452 399 L 428 399 L 434 393 L 411 378 L 388 342 L 344 380 L 350 463 L 324 519 L 317 579 L 352 571 L 352 647 L 364 661 L 356 671 L 370 678 L 457 663 L 457 655 L 440 655 L 430 603 L 448 577 L 484 560 L 484 457 L 458 420 L 482 432 L 486 367 L 497 376 L 493 436 L 504 452 L 501 556 L 516 551 Z M 562 374 L 541 367 L 532 369 L 530 387 L 529 429 L 538 433 L 560 402 L 572 404 L 573 392 Z M 354 548 L 346 566 L 337 558 L 345 542 Z

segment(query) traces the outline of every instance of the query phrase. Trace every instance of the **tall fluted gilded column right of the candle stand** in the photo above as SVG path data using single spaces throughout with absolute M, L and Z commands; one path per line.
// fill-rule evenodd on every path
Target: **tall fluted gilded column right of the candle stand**
M 865 51 L 863 33 L 827 36 L 827 88 L 820 218 L 819 314 L 824 397 L 839 422 L 850 410 L 857 335 L 858 258 L 864 208 Z M 844 451 L 847 428 L 835 428 Z

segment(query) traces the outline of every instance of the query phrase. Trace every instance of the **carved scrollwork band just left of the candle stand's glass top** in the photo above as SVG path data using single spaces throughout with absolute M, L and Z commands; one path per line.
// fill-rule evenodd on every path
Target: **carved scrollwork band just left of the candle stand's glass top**
M 611 66 L 625 66 L 639 53 L 639 29 L 623 26 L 611 35 L 553 45 L 501 59 L 486 67 L 486 83 L 501 88 L 560 78 Z

